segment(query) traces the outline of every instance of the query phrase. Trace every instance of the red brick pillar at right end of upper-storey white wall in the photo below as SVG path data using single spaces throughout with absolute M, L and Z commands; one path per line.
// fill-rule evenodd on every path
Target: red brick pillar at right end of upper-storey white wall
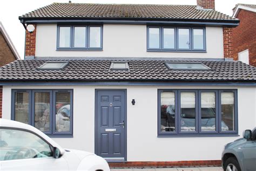
M 233 58 L 232 28 L 223 27 L 224 58 Z

